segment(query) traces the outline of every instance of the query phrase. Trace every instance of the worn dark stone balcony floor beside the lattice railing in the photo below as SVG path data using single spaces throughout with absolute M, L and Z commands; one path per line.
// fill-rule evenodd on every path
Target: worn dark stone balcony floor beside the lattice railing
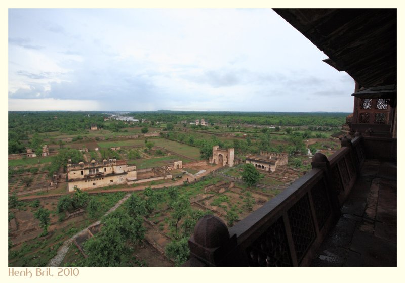
M 396 163 L 366 160 L 311 266 L 396 266 Z

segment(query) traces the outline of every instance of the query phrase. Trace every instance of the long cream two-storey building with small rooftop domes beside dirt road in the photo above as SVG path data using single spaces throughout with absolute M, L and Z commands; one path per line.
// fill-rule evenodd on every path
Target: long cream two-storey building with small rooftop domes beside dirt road
M 128 166 L 125 160 L 109 159 L 99 163 L 67 164 L 67 178 L 69 192 L 74 188 L 86 190 L 115 184 L 125 184 L 127 179 L 136 179 L 136 166 Z

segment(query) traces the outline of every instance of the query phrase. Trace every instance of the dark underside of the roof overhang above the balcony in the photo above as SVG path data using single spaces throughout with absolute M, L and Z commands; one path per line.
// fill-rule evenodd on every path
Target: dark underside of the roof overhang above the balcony
M 362 87 L 396 84 L 396 9 L 274 9 Z

